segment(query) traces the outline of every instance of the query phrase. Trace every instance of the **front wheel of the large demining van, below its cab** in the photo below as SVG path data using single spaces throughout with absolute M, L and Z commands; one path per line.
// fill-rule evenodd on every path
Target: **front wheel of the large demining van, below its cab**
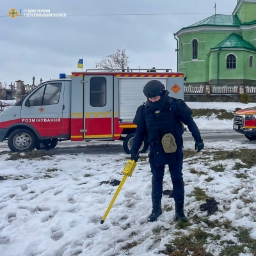
M 17 129 L 8 137 L 8 147 L 12 152 L 32 151 L 36 147 L 36 136 L 28 129 Z

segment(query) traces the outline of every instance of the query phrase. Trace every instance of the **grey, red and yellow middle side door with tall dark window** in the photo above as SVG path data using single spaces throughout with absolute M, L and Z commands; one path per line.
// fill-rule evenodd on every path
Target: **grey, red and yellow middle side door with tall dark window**
M 113 138 L 113 76 L 84 75 L 84 139 Z

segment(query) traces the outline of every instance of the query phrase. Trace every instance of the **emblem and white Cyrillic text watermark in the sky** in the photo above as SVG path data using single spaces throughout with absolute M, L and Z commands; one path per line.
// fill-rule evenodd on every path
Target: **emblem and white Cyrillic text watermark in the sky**
M 20 9 L 19 14 L 16 9 L 11 9 L 9 15 L 11 18 L 18 15 L 19 17 L 67 17 L 67 13 L 54 13 L 49 9 Z

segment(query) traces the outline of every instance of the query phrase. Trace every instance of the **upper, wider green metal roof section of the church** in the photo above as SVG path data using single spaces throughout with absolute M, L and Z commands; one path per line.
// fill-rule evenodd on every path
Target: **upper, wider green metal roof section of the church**
M 188 26 L 187 28 L 193 28 L 198 26 L 233 26 L 239 27 L 241 25 L 237 15 L 223 15 L 215 14 L 204 20 L 196 22 L 195 24 Z

